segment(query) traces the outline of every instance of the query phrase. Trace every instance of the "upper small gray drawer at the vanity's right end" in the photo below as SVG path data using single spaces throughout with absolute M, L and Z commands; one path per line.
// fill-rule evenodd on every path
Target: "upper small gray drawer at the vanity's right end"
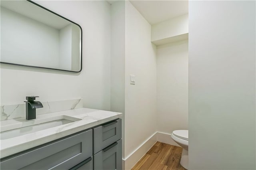
M 122 120 L 111 121 L 96 127 L 94 132 L 94 154 L 122 138 Z

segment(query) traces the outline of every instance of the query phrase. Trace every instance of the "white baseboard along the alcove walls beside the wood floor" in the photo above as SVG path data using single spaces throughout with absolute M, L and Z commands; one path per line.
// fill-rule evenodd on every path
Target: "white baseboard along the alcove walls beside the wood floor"
M 179 146 L 172 140 L 171 134 L 164 132 L 155 132 L 147 140 L 145 140 L 132 154 L 128 155 L 122 160 L 123 169 L 130 170 L 145 154 L 150 150 L 150 148 L 157 142 L 167 143 L 174 146 Z

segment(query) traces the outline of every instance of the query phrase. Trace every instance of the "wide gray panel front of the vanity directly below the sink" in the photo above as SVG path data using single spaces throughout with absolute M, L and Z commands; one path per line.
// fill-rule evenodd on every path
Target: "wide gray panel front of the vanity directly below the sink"
M 92 156 L 92 130 L 47 144 L 0 162 L 5 169 L 70 169 Z

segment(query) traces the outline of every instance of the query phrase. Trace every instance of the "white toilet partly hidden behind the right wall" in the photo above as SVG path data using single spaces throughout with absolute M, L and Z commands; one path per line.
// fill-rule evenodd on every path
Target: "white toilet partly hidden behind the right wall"
M 188 169 L 188 130 L 174 130 L 171 137 L 182 147 L 180 164 L 184 168 Z

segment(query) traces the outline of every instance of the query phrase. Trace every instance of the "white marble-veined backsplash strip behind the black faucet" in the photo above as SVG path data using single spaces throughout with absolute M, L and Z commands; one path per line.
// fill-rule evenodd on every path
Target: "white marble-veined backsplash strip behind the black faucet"
M 83 107 L 82 99 L 69 99 L 60 101 L 43 101 L 43 108 L 36 109 L 36 115 L 79 109 Z M 0 121 L 26 117 L 25 103 L 1 105 Z

